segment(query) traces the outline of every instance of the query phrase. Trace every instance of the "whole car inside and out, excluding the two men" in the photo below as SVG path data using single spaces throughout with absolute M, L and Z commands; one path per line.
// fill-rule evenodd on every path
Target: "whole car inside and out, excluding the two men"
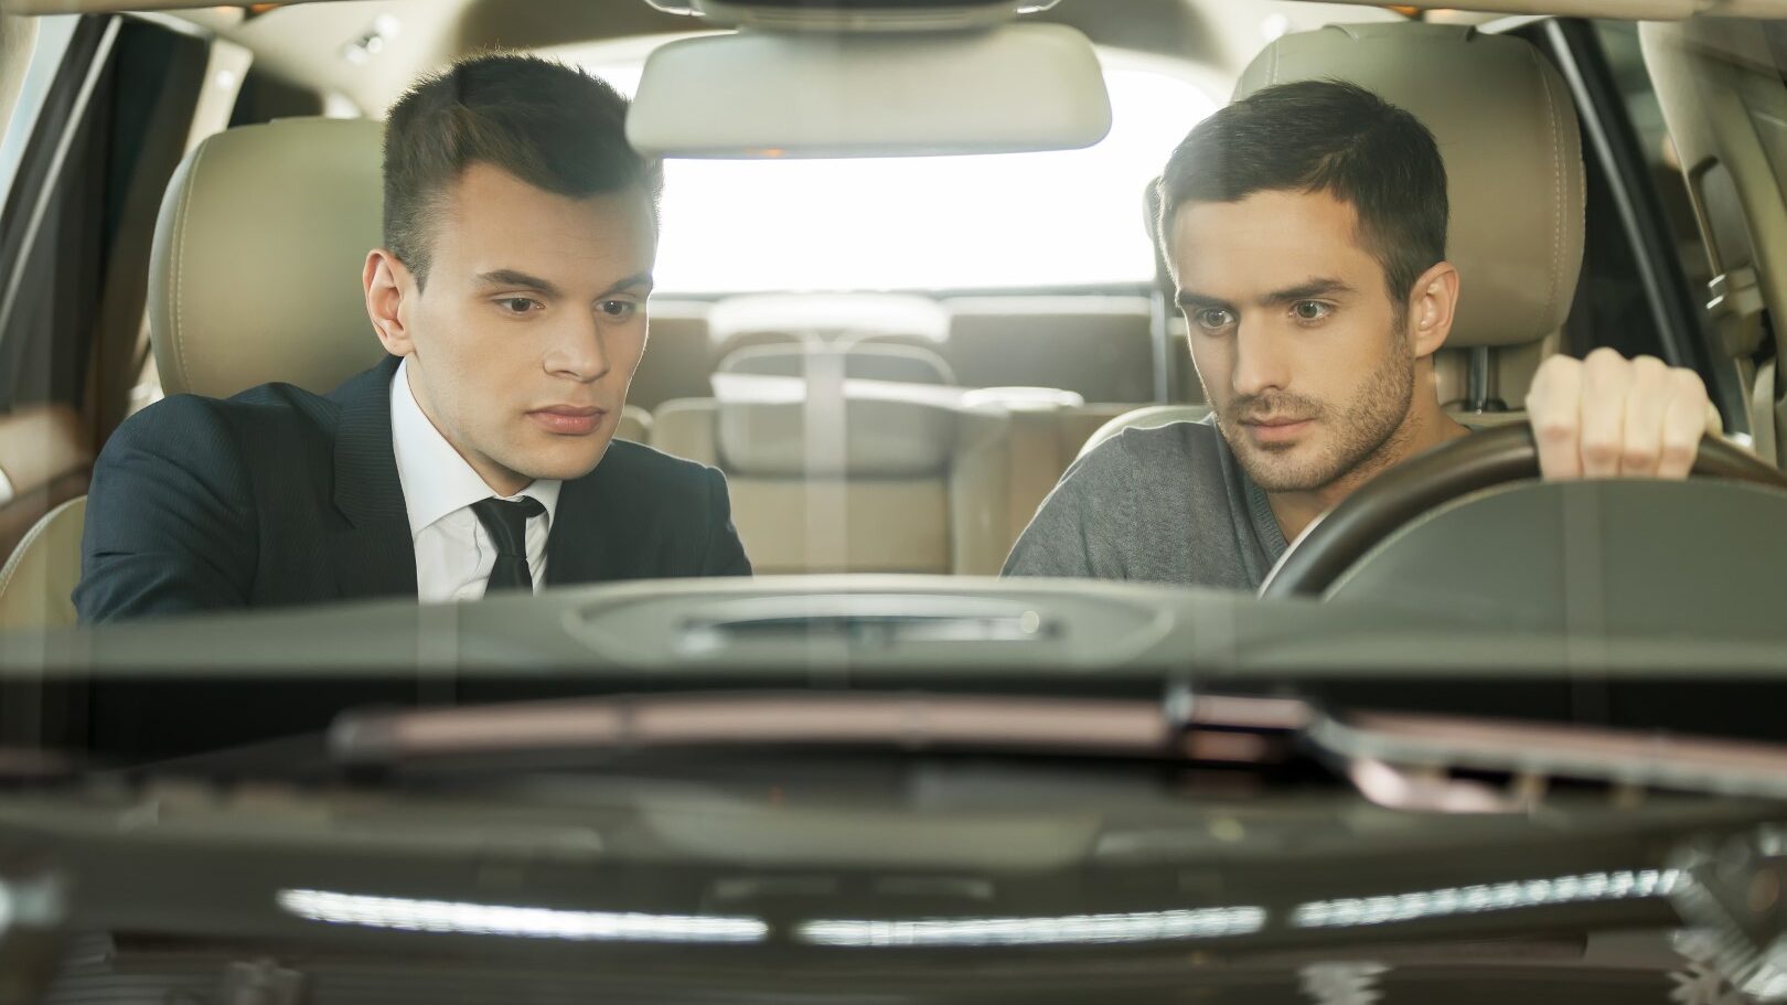
M 122 422 L 381 358 L 495 48 L 665 157 L 618 435 L 758 578 L 77 626 Z M 1210 418 L 1154 181 L 1310 79 L 1439 141 L 1476 433 L 1258 594 L 995 578 Z M 1787 1001 L 1783 241 L 1787 0 L 0 0 L 0 1005 Z M 1535 477 L 1598 347 L 1692 479 Z

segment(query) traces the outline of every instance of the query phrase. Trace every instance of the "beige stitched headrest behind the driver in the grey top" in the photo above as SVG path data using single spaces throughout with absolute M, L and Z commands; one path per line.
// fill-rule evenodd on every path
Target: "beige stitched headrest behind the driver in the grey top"
M 1269 45 L 1235 97 L 1312 79 L 1374 91 L 1439 141 L 1447 258 L 1462 277 L 1446 345 L 1521 345 L 1556 331 L 1581 268 L 1585 188 L 1558 72 L 1526 41 L 1464 25 L 1337 25 Z

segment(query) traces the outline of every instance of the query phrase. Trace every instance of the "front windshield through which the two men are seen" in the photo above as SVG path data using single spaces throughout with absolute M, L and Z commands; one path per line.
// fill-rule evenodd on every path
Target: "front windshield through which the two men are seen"
M 5 624 L 833 576 L 640 651 L 1060 646 L 1045 581 L 1758 642 L 1766 179 L 1667 80 L 1764 29 L 1190 7 L 18 21 Z

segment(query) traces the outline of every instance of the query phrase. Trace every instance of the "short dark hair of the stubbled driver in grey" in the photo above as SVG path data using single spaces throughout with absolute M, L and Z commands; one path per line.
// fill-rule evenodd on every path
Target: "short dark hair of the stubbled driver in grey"
M 1162 250 L 1187 202 L 1256 191 L 1324 191 L 1349 204 L 1396 302 L 1446 259 L 1446 163 L 1433 134 L 1356 84 L 1278 84 L 1197 123 L 1160 177 Z

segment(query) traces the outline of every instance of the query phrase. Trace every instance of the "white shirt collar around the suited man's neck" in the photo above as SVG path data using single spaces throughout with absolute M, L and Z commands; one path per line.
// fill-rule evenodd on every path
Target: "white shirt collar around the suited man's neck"
M 391 449 L 397 454 L 397 479 L 404 486 L 404 508 L 409 511 L 409 535 L 420 535 L 450 513 L 465 510 L 479 499 L 490 499 L 484 485 L 459 451 L 441 436 L 434 422 L 422 413 L 416 395 L 409 392 L 409 359 L 397 365 L 391 377 Z M 558 495 L 563 483 L 536 477 L 533 485 L 509 499 L 529 495 L 547 508 L 547 529 L 558 513 Z

